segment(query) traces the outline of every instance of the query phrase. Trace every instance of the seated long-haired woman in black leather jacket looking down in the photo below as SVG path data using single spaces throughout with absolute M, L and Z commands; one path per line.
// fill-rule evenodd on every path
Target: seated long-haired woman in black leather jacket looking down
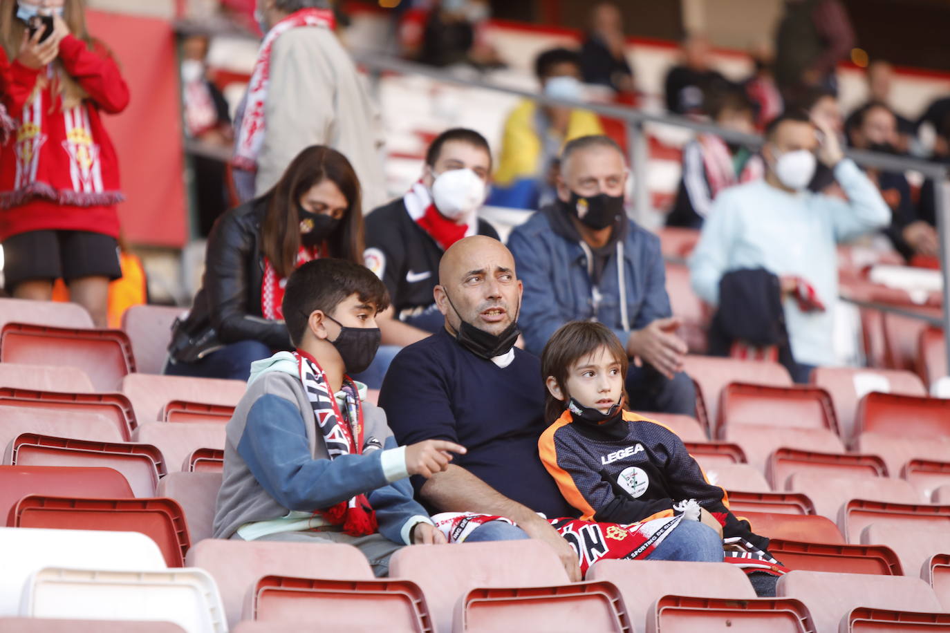
M 215 223 L 201 289 L 173 326 L 164 373 L 247 380 L 251 363 L 293 349 L 283 285 L 316 257 L 363 264 L 359 180 L 346 157 L 322 145 L 300 152 L 274 189 Z

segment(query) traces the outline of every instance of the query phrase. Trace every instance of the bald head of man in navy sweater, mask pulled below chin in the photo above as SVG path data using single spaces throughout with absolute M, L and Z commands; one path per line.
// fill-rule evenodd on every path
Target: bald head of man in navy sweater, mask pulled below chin
M 442 255 L 435 303 L 452 330 L 464 320 L 498 334 L 517 318 L 521 296 L 515 258 L 497 239 L 472 235 Z

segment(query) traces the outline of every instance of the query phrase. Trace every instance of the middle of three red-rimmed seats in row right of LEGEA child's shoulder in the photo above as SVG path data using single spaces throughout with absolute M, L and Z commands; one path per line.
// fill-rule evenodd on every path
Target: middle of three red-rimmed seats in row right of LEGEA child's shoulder
M 780 448 L 769 456 L 766 478 L 772 490 L 788 488 L 788 475 L 812 473 L 827 476 L 887 476 L 887 466 L 876 455 L 853 453 L 816 453 L 793 448 Z

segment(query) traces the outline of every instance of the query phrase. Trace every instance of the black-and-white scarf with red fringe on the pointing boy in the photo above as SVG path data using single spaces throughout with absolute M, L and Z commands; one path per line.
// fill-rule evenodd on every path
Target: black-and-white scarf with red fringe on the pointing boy
M 341 455 L 362 455 L 382 449 L 383 444 L 377 438 L 363 439 L 363 406 L 352 379 L 345 376 L 343 380 L 346 407 L 341 414 L 320 365 L 306 352 L 295 351 L 294 357 L 300 382 L 314 408 L 316 424 L 331 460 Z M 366 536 L 378 528 L 376 512 L 373 512 L 365 494 L 357 494 L 330 508 L 317 509 L 314 514 L 322 516 L 331 525 L 342 526 L 343 531 L 351 536 Z

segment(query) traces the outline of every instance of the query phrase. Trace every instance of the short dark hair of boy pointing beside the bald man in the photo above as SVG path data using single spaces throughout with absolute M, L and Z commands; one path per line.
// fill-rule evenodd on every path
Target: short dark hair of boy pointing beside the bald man
M 333 316 L 340 302 L 352 294 L 375 306 L 377 313 L 390 307 L 386 286 L 359 264 L 345 259 L 314 259 L 295 270 L 287 280 L 282 304 L 291 342 L 300 346 L 314 310 Z

